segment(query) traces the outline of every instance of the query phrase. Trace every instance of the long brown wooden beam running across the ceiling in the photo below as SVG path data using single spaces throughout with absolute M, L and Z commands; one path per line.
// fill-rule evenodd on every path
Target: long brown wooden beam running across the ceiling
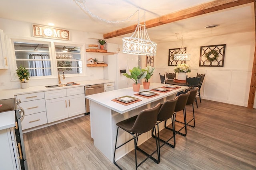
M 254 2 L 254 0 L 215 0 L 212 2 L 194 6 L 191 8 L 180 10 L 178 12 L 166 14 L 159 18 L 148 20 L 148 21 L 146 21 L 146 27 L 147 28 L 156 27 L 156 26 L 163 25 L 166 23 L 184 20 L 186 18 L 200 16 L 202 14 L 207 14 L 210 12 L 215 12 L 215 11 L 223 10 L 226 8 L 231 8 L 234 6 L 240 6 L 240 5 L 248 4 L 251 2 Z M 131 25 L 131 26 L 128 26 L 128 27 L 125 27 L 122 29 L 118 29 L 116 31 L 112 31 L 110 33 L 104 34 L 103 37 L 104 37 L 104 39 L 108 39 L 108 38 L 117 37 L 120 35 L 125 35 L 128 33 L 132 33 L 135 31 L 136 26 L 137 26 L 137 24 Z

